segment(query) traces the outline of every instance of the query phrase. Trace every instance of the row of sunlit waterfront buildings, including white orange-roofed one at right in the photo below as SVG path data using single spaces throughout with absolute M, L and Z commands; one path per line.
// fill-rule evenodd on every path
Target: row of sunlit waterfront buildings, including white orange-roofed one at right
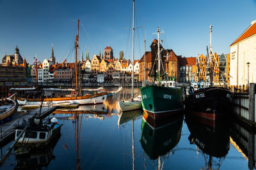
M 251 22 L 249 27 L 230 45 L 230 53 L 217 55 L 212 53 L 212 66 L 209 70 L 207 55 L 198 57 L 182 57 L 176 55 L 173 50 L 161 48 L 163 62 L 162 74 L 168 80 L 180 83 L 209 80 L 209 72 L 213 74 L 213 80 L 225 81 L 231 86 L 247 86 L 248 83 L 256 82 L 256 21 Z M 206 52 L 205 52 L 206 53 Z M 150 45 L 150 51 L 145 52 L 140 60 L 134 61 L 135 81 L 154 81 L 157 69 L 157 40 Z M 37 62 L 38 81 L 40 83 L 72 81 L 74 77 L 74 63 L 56 63 L 53 47 L 49 60 Z M 22 59 L 19 48 L 15 48 L 14 55 L 5 55 L 0 65 L 0 86 L 23 85 L 29 81 L 35 81 L 36 64 L 28 64 Z M 131 81 L 131 60 L 118 60 L 113 56 L 113 49 L 107 46 L 104 55 L 93 55 L 92 60 L 83 53 L 79 60 L 80 79 L 88 82 L 127 82 Z

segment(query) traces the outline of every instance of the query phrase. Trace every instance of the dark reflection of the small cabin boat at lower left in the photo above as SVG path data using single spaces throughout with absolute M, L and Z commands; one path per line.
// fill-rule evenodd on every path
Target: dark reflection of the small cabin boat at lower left
M 22 155 L 15 155 L 16 166 L 14 169 L 42 169 L 47 167 L 52 159 L 55 159 L 53 150 L 60 139 L 60 134 L 56 136 L 51 145 L 42 149 L 31 149 L 29 153 Z

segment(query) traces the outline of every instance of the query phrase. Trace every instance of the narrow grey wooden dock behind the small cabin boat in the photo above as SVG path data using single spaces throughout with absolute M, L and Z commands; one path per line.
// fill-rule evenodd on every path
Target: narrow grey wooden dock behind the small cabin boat
M 41 117 L 42 118 L 47 117 L 49 114 L 52 113 L 52 111 L 56 110 L 57 108 L 58 106 L 42 107 Z M 33 117 L 39 111 L 40 111 L 40 108 L 36 108 L 35 110 L 31 110 L 31 111 L 28 111 L 27 113 L 24 113 L 24 115 L 22 115 L 21 117 L 14 118 L 10 122 L 1 124 L 0 125 L 0 146 L 4 146 L 10 140 L 14 139 L 15 127 L 22 124 L 24 120 L 28 121 L 29 118 Z

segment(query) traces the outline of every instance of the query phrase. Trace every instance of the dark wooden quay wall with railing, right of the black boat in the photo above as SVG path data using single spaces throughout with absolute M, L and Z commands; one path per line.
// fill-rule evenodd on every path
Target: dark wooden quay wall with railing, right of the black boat
M 248 92 L 234 92 L 232 96 L 233 113 L 246 124 L 256 127 L 255 84 L 250 83 Z

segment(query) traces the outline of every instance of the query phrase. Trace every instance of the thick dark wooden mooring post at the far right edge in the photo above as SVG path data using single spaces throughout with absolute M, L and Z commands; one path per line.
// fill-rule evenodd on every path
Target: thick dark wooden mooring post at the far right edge
M 249 86 L 249 120 L 255 122 L 255 85 L 250 83 Z

